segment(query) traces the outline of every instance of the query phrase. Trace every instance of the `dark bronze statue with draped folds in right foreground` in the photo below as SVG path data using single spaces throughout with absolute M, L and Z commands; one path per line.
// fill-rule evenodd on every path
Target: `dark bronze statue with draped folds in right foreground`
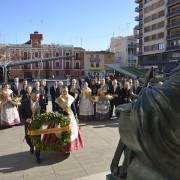
M 161 88 L 144 88 L 131 104 L 118 106 L 120 142 L 109 179 L 180 178 L 180 66 Z M 124 162 L 119 159 L 124 152 Z

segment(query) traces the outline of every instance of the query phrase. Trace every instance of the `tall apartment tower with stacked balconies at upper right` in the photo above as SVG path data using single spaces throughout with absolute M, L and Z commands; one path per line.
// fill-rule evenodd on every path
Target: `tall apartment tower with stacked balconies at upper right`
M 169 72 L 180 59 L 180 0 L 135 0 L 138 64 Z

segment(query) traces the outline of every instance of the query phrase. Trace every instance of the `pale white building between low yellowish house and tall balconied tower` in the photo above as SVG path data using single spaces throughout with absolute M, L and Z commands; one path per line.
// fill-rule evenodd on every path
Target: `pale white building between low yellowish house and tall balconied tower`
M 112 37 L 110 51 L 115 53 L 115 63 L 119 63 L 122 66 L 136 66 L 136 45 L 137 42 L 135 36 Z

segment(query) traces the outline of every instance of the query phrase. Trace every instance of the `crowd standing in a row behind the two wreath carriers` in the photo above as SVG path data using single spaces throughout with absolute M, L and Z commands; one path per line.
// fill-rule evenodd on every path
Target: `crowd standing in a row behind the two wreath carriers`
M 26 103 L 32 98 L 33 92 L 38 94 L 40 114 L 47 111 L 48 100 L 52 103 L 52 112 L 61 111 L 56 99 L 62 95 L 65 85 L 63 81 L 54 81 L 48 87 L 46 80 L 29 84 L 27 80 L 20 85 L 19 78 L 15 77 L 11 86 L 2 83 L 0 89 L 0 125 L 12 126 L 25 122 L 24 112 Z M 87 78 L 84 82 L 72 79 L 67 86 L 68 94 L 74 98 L 73 112 L 81 120 L 106 120 L 113 118 L 114 108 L 120 104 L 131 102 L 141 90 L 137 79 Z M 50 96 L 50 98 L 48 98 Z M 20 103 L 13 100 L 19 98 Z

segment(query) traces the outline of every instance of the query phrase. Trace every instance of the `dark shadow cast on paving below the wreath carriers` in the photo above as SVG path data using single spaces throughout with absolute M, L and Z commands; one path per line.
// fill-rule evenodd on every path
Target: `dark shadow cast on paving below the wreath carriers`
M 35 166 L 47 166 L 66 160 L 69 156 L 60 152 L 42 152 L 41 164 L 37 164 L 34 155 L 29 151 L 0 156 L 0 173 L 23 171 Z

